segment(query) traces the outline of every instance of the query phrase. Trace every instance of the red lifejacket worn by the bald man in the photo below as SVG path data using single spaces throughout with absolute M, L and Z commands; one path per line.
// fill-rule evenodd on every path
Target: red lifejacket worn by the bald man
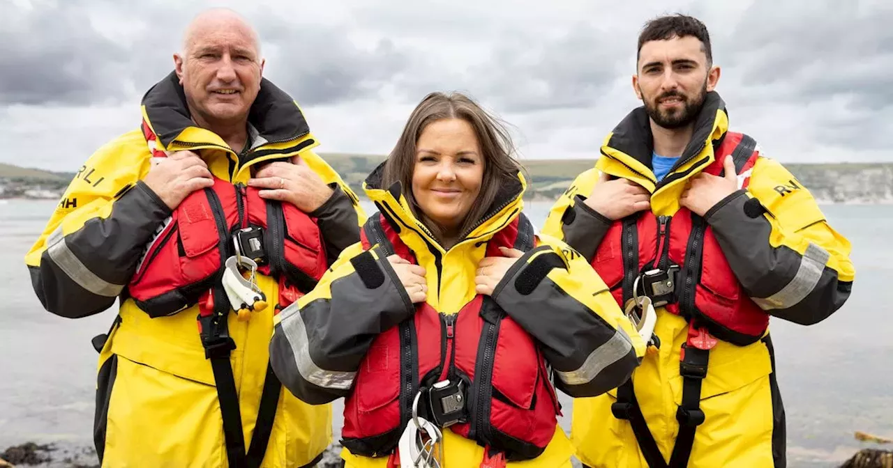
M 267 261 L 257 271 L 278 279 L 277 310 L 311 291 L 328 267 L 316 220 L 257 192 L 214 177 L 213 187 L 189 194 L 149 243 L 128 284 L 129 297 L 153 317 L 191 307 L 219 283 L 235 252 L 234 236 L 245 228 L 262 230 L 253 245 L 263 245 Z

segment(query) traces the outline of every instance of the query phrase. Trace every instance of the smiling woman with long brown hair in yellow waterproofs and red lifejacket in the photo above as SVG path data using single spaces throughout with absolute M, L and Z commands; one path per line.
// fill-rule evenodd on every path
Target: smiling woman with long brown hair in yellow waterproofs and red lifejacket
M 552 374 L 591 397 L 645 351 L 586 260 L 533 233 L 507 135 L 425 97 L 364 183 L 362 242 L 280 314 L 273 369 L 308 403 L 346 398 L 346 466 L 411 466 L 426 442 L 447 468 L 570 466 Z

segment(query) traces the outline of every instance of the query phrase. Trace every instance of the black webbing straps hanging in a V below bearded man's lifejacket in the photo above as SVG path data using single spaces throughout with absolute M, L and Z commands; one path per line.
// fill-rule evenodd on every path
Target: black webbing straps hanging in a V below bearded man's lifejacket
M 700 409 L 701 382 L 704 382 L 707 375 L 709 351 L 683 345 L 682 352 L 684 353 L 684 357 L 680 361 L 682 403 L 676 411 L 679 434 L 673 445 L 669 464 L 664 461 L 654 436 L 648 430 L 648 424 L 638 406 L 631 379 L 617 388 L 617 402 L 611 406 L 614 417 L 630 421 L 632 432 L 638 441 L 638 448 L 642 451 L 642 456 L 645 456 L 645 461 L 650 468 L 684 468 L 688 466 L 691 447 L 695 443 L 695 431 L 697 431 L 698 425 L 704 423 L 704 412 Z

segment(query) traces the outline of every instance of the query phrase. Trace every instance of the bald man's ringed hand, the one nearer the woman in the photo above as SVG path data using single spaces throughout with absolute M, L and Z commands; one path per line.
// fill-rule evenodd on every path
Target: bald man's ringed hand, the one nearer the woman
M 248 185 L 266 189 L 257 193 L 265 199 L 288 201 L 305 213 L 313 212 L 329 200 L 332 189 L 300 157 L 293 161 L 263 166 Z

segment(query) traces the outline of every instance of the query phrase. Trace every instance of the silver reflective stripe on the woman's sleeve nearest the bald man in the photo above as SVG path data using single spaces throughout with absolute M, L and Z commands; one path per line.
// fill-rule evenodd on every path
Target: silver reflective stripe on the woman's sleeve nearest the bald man
M 301 316 L 297 303 L 293 302 L 280 312 L 282 331 L 295 355 L 297 372 L 304 380 L 324 389 L 350 390 L 354 384 L 355 372 L 327 371 L 321 369 L 310 357 L 310 342 L 307 338 L 307 327 Z

